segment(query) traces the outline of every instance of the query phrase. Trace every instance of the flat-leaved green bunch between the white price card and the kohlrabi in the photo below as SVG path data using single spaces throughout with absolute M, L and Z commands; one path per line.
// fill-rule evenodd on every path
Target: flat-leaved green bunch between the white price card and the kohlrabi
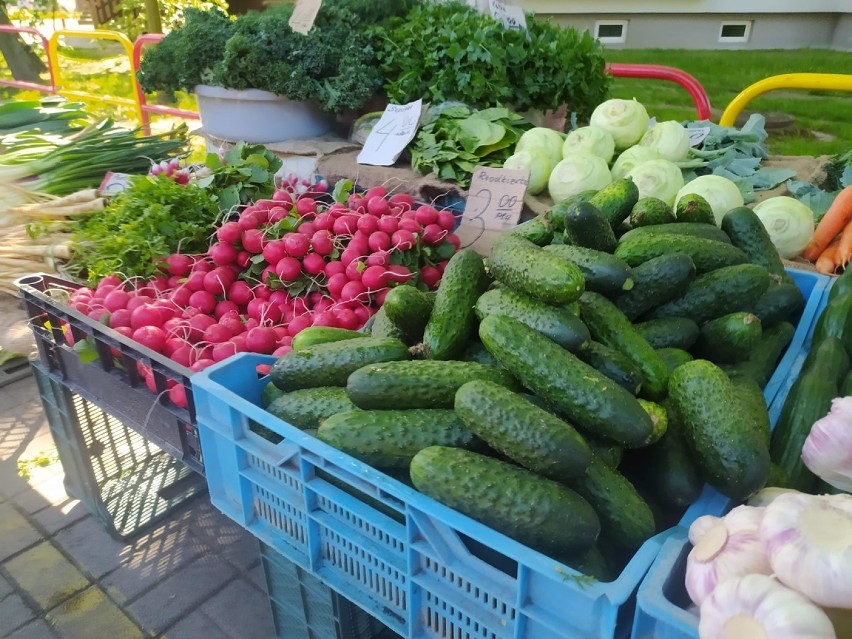
M 467 188 L 478 164 L 502 166 L 531 126 L 502 107 L 481 111 L 464 105 L 433 107 L 412 143 L 411 166 Z

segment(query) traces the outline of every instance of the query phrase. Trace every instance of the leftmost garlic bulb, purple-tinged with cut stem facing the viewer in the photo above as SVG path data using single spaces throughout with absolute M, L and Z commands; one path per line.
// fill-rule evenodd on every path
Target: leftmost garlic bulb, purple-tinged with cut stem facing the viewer
M 701 536 L 686 558 L 686 592 L 692 601 L 701 605 L 730 579 L 752 573 L 772 574 L 766 545 L 760 538 L 763 514 L 763 508 L 738 506 Z

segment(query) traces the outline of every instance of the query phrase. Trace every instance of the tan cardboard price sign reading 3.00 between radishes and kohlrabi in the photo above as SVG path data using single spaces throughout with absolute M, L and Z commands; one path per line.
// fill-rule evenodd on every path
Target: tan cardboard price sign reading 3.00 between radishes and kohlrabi
M 476 167 L 456 230 L 461 245 L 487 256 L 494 240 L 521 218 L 529 181 L 528 171 Z

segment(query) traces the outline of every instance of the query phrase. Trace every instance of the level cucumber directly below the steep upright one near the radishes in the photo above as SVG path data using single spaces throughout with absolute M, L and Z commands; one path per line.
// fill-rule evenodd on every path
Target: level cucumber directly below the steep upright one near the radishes
M 346 382 L 346 394 L 358 408 L 452 408 L 459 387 L 473 379 L 505 388 L 517 383 L 502 368 L 477 362 L 412 360 L 364 366 Z

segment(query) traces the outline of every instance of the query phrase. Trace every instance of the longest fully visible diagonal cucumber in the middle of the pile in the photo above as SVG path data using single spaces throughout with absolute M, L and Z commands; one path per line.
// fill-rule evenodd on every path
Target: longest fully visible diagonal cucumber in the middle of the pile
M 479 337 L 526 388 L 571 423 L 626 446 L 641 446 L 651 434 L 651 418 L 636 398 L 538 331 L 489 315 Z

